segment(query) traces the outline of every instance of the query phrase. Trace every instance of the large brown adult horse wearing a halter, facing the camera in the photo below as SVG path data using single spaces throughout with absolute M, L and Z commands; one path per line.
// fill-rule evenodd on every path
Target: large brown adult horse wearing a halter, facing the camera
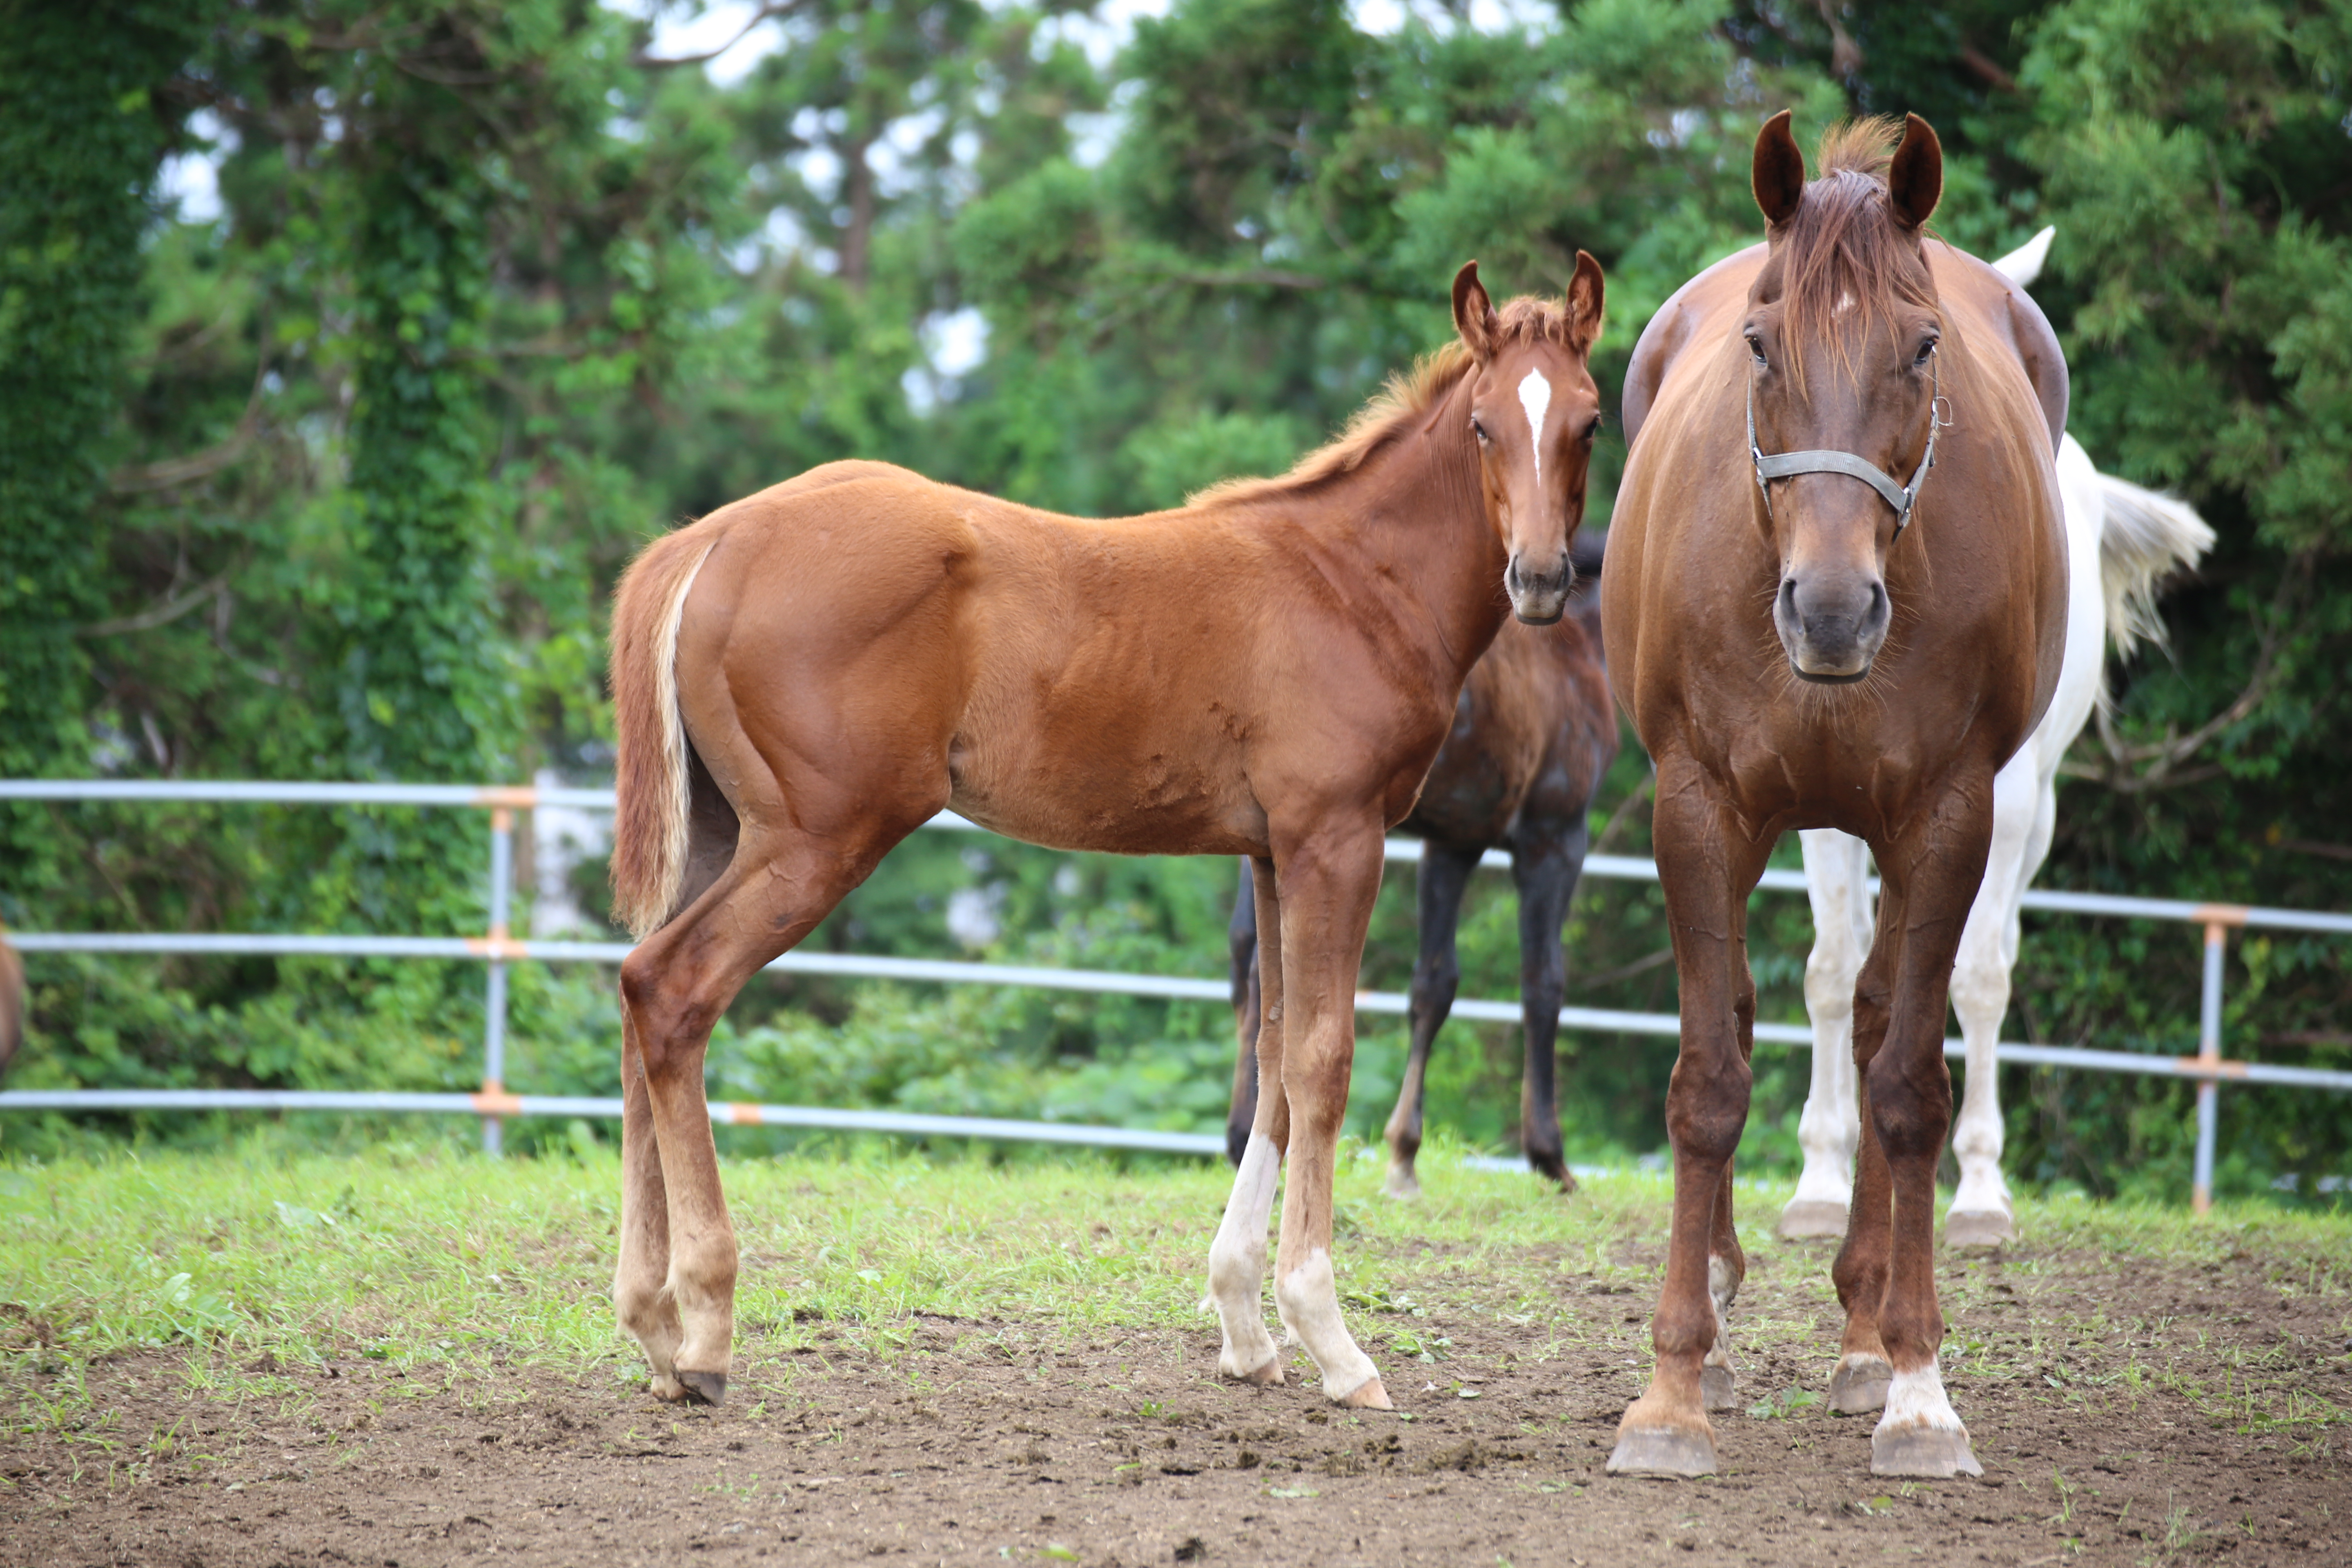
M 2034 303 L 1924 233 L 1943 190 L 1936 132 L 1912 115 L 1889 158 L 1891 139 L 1889 122 L 1832 132 L 1806 183 L 1773 115 L 1752 172 L 1769 240 L 1684 284 L 1625 376 L 1632 454 L 1604 618 L 1611 684 L 1658 766 L 1682 1056 L 1658 1371 L 1611 1472 L 1715 1469 L 1705 1406 L 1731 1396 L 1722 1305 L 1745 1267 L 1731 1232 L 1755 1025 L 1745 912 L 1790 827 L 1865 839 L 1884 877 L 1853 1001 L 1870 1110 L 1835 1267 L 1832 1403 L 1886 1406 L 1877 1474 L 1978 1469 L 1936 1366 L 1943 1013 L 1992 776 L 2058 682 L 2051 454 L 2067 383 Z

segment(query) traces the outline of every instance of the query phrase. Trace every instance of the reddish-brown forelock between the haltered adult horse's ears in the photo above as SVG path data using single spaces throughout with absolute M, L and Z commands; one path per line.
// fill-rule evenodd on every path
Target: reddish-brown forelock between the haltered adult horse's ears
M 1820 134 L 1809 181 L 1795 216 L 1773 235 L 1780 242 L 1780 341 L 1790 369 L 1804 367 L 1804 346 L 1828 339 L 1839 369 L 1853 374 L 1851 339 L 1830 322 L 1839 308 L 1856 310 L 1867 331 L 1893 315 L 1898 303 L 1936 306 L 1936 284 L 1919 256 L 1919 230 L 1905 233 L 1886 197 L 1886 167 L 1903 122 L 1870 115 L 1832 125 Z

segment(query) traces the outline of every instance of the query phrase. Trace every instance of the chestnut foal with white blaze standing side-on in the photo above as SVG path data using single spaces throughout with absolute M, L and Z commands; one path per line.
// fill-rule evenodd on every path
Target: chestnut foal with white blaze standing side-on
M 1338 1314 L 1331 1175 L 1381 837 L 1512 609 L 1571 585 L 1602 275 L 1501 313 L 1282 480 L 1089 522 L 833 463 L 649 545 L 614 607 L 623 1157 L 614 1305 L 663 1399 L 715 1401 L 736 1244 L 703 1048 L 746 978 L 941 806 L 1056 849 L 1247 853 L 1263 1095 L 1209 1253 L 1218 1366 L 1279 1382 L 1275 1300 L 1331 1399 L 1388 1406 Z M 1508 599 L 1505 599 L 1508 592 Z

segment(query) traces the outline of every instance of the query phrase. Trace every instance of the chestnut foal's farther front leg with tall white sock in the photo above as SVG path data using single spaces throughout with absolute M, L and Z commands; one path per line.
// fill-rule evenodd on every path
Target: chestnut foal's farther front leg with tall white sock
M 1209 1295 L 1223 1345 L 1216 1371 L 1242 1382 L 1282 1382 L 1282 1356 L 1275 1335 L 1265 1333 L 1265 1222 L 1275 1213 L 1275 1182 L 1282 1180 L 1282 1152 L 1291 1140 L 1291 1103 L 1282 1098 L 1282 893 L 1275 863 L 1251 865 L 1251 903 L 1256 910 L 1258 1025 L 1251 1032 L 1256 1053 L 1256 1100 L 1249 1138 L 1235 1159 L 1232 1192 L 1225 1218 L 1209 1244 Z

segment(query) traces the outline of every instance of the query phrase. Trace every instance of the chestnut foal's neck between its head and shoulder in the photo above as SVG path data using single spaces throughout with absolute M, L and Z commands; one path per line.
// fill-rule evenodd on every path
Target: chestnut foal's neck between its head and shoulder
M 1355 562 L 1352 607 L 1388 607 L 1385 635 L 1418 649 L 1458 689 L 1508 614 L 1503 541 L 1486 517 L 1470 440 L 1470 378 L 1317 496 L 1305 522 Z

